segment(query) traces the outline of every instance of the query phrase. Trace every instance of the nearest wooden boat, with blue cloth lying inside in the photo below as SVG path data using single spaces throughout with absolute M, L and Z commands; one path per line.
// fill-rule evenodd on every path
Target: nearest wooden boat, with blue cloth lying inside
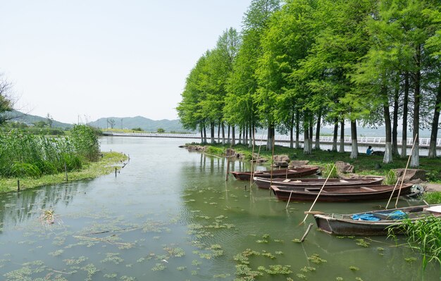
M 404 218 L 421 220 L 427 216 L 441 217 L 441 204 L 354 214 L 317 214 L 314 219 L 320 230 L 332 235 L 387 235 L 387 228 L 400 225 Z

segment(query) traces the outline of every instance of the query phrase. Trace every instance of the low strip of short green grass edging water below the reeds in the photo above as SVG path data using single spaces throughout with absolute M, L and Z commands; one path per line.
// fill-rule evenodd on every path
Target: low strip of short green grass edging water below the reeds
M 81 170 L 73 170 L 68 173 L 68 180 L 85 180 L 99 175 L 106 175 L 115 171 L 116 164 L 122 164 L 127 160 L 125 154 L 118 152 L 104 152 L 103 157 L 97 162 L 85 164 Z M 54 185 L 66 182 L 65 173 L 54 175 L 43 175 L 42 177 L 22 177 L 22 178 L 0 178 L 0 193 L 17 190 L 17 180 L 20 180 L 20 189 L 40 187 L 42 185 Z

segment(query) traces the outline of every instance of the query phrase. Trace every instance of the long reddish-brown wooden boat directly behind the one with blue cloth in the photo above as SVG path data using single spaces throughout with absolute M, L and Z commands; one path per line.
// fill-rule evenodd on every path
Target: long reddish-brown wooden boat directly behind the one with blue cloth
M 395 185 L 367 185 L 354 187 L 323 187 L 317 201 L 323 202 L 349 202 L 389 199 L 390 194 L 398 196 L 399 186 L 394 191 Z M 400 195 L 409 194 L 412 185 L 403 185 Z M 320 192 L 317 187 L 277 187 L 271 185 L 273 193 L 279 200 L 314 201 Z

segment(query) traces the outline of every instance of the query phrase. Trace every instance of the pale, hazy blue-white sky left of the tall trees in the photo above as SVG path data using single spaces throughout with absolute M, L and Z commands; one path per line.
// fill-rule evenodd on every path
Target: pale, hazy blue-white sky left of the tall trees
M 185 79 L 251 0 L 0 0 L 15 109 L 63 123 L 175 120 Z

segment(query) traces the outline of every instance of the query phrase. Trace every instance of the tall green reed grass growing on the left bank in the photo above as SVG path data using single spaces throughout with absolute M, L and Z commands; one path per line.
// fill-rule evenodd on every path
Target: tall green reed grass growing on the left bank
M 99 142 L 92 128 L 78 125 L 72 137 L 45 137 L 20 130 L 0 132 L 0 177 L 39 177 L 82 168 L 97 160 Z

